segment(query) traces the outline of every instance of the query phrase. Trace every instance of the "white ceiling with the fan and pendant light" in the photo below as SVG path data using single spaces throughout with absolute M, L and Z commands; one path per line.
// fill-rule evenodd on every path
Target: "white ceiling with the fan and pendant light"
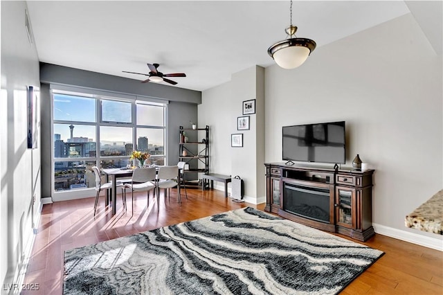
M 289 1 L 28 1 L 41 62 L 125 78 L 159 63 L 176 86 L 204 91 L 255 64 L 286 38 Z M 317 48 L 409 13 L 404 1 L 294 1 L 298 37 Z M 315 58 L 315 51 L 310 58 Z M 309 62 L 309 60 L 308 60 Z M 303 65 L 306 66 L 307 64 Z M 169 84 L 168 84 L 169 85 Z

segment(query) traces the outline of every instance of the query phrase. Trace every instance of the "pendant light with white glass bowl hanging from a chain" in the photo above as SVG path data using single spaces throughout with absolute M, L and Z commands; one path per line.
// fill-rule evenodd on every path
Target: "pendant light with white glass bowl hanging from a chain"
M 291 25 L 284 29 L 289 38 L 268 48 L 269 55 L 283 69 L 295 69 L 301 66 L 317 45 L 314 40 L 295 36 L 297 27 L 292 25 L 292 1 L 290 11 Z

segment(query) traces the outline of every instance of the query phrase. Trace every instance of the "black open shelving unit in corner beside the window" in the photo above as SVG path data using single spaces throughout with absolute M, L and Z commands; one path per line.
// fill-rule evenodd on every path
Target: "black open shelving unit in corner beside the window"
M 186 141 L 189 135 L 192 141 Z M 183 151 L 185 154 L 183 154 Z M 179 161 L 189 164 L 188 172 L 200 172 L 209 174 L 209 126 L 205 128 L 183 128 L 180 126 Z M 199 168 L 199 163 L 204 168 Z

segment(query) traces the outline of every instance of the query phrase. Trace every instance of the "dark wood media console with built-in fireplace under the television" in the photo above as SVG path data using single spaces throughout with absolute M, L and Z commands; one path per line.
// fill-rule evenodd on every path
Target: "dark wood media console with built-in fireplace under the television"
M 265 163 L 265 211 L 365 241 L 372 227 L 374 170 Z

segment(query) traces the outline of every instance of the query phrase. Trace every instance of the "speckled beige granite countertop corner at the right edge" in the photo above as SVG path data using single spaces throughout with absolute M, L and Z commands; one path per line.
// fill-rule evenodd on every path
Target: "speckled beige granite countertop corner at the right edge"
M 443 190 L 406 215 L 405 225 L 420 231 L 443 235 Z

